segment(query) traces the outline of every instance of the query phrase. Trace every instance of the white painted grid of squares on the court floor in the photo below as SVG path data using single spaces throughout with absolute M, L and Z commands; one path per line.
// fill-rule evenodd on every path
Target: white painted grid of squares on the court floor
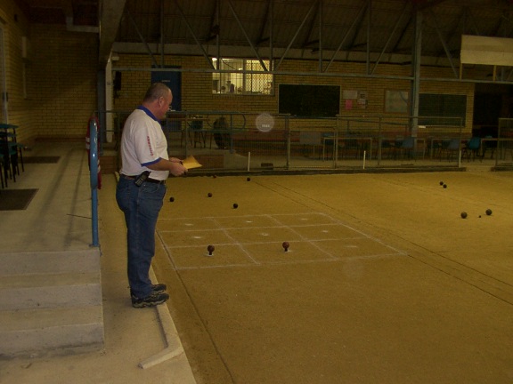
M 405 255 L 320 212 L 162 219 L 157 233 L 175 269 Z M 290 244 L 287 252 L 283 242 Z M 215 246 L 212 255 L 208 245 Z

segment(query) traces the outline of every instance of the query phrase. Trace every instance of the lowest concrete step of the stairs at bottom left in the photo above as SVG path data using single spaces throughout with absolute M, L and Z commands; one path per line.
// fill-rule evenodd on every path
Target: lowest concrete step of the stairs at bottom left
M 103 347 L 102 307 L 0 311 L 0 358 L 83 353 Z

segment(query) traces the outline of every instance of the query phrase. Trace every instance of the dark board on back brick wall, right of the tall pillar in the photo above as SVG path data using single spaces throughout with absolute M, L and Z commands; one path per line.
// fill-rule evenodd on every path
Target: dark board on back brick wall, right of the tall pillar
M 467 95 L 419 94 L 420 125 L 465 125 L 466 116 Z M 453 117 L 460 117 L 460 119 Z

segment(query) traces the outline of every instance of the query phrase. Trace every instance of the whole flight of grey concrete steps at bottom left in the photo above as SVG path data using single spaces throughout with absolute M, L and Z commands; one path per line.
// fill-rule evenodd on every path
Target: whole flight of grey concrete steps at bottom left
M 0 358 L 103 347 L 100 252 L 0 253 Z

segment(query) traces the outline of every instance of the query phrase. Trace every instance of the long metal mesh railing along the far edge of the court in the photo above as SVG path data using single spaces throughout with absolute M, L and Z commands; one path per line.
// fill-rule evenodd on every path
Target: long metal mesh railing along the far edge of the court
M 104 111 L 118 148 L 128 111 Z M 419 125 L 419 122 L 430 125 Z M 458 166 L 470 132 L 460 118 L 337 116 L 305 119 L 233 111 L 170 111 L 162 123 L 172 156 L 200 156 L 200 171 Z M 109 140 L 107 140 L 109 141 Z M 103 143 L 102 143 L 103 144 Z M 214 158 L 222 158 L 213 160 Z

